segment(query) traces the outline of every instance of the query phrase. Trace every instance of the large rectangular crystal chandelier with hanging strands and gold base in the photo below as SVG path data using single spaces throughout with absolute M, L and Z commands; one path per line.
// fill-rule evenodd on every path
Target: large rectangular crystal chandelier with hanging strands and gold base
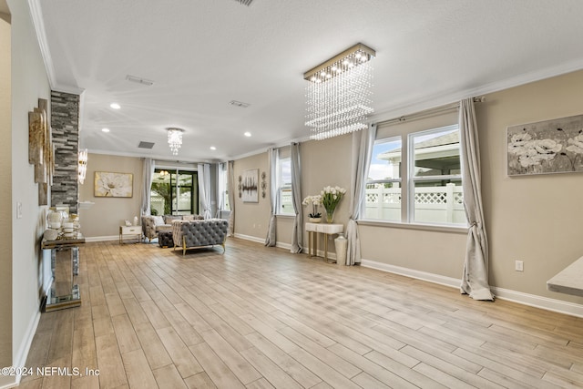
M 354 45 L 303 74 L 306 87 L 306 126 L 312 139 L 332 138 L 367 127 L 373 112 L 374 50 Z

